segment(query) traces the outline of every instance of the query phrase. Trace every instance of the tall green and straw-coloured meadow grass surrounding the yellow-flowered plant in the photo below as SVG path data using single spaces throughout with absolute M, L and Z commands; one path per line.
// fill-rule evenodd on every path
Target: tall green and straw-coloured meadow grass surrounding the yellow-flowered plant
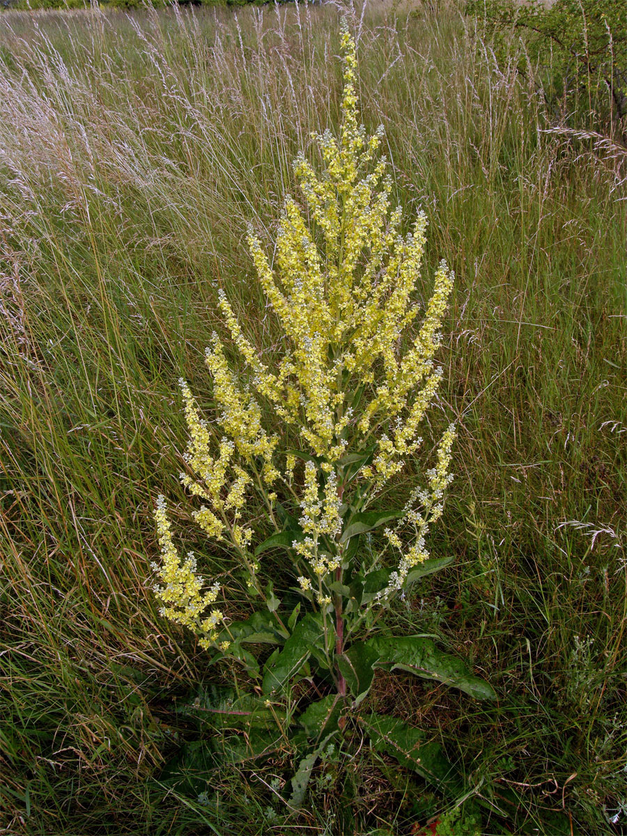
M 177 701 L 231 672 L 158 616 L 149 566 L 156 495 L 178 523 L 189 507 L 176 380 L 211 408 L 217 288 L 277 337 L 246 225 L 271 246 L 294 156 L 337 125 L 338 22 L 331 5 L 0 17 L 2 833 L 353 832 L 339 786 L 285 818 L 272 765 L 214 774 L 204 805 L 161 780 Z M 433 421 L 459 419 L 456 481 L 431 540 L 456 562 L 394 618 L 499 695 L 382 675 L 372 700 L 440 737 L 477 793 L 515 793 L 486 836 L 624 833 L 624 159 L 544 133 L 523 46 L 498 65 L 453 4 L 352 25 L 364 122 L 385 126 L 396 199 L 430 218 L 421 296 L 441 257 L 457 276 Z M 231 569 L 189 544 L 211 577 Z M 357 767 L 354 833 L 425 823 L 383 760 Z

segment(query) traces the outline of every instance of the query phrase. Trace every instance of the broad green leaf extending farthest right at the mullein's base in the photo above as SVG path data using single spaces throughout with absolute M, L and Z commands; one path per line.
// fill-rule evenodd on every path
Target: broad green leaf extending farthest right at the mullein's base
M 364 645 L 370 652 L 374 652 L 375 667 L 408 670 L 423 679 L 436 680 L 459 688 L 477 700 L 497 698 L 492 686 L 473 675 L 461 659 L 442 653 L 436 648 L 433 640 L 424 636 L 377 635 L 365 641 Z

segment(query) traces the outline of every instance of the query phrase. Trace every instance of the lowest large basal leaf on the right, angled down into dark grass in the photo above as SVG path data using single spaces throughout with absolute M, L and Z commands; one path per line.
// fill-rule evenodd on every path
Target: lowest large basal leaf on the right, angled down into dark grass
M 369 714 L 359 720 L 375 752 L 385 752 L 409 767 L 427 781 L 452 795 L 461 792 L 463 785 L 456 768 L 446 759 L 439 743 L 425 742 L 420 729 L 408 726 L 395 717 Z

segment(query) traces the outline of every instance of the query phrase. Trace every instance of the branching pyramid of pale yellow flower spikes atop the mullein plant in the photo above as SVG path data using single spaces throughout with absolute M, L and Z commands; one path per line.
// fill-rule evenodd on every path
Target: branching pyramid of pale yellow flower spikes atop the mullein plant
M 350 531 L 380 525 L 379 517 L 369 516 L 371 503 L 421 446 L 418 430 L 442 376 L 434 356 L 453 274 L 441 262 L 426 310 L 416 303 L 426 217 L 419 213 L 411 232 L 400 234 L 400 207 L 390 207 L 392 184 L 385 157 L 378 155 L 383 129 L 369 136 L 358 123 L 355 44 L 345 26 L 342 50 L 339 137 L 329 130 L 315 137 L 322 173 L 303 156 L 294 163 L 308 221 L 287 197 L 273 264 L 252 228 L 247 237 L 257 276 L 286 338 L 283 357 L 272 368 L 260 359 L 221 292 L 219 306 L 249 384 L 240 385 L 221 339 L 213 334 L 206 364 L 222 434 L 218 444 L 188 385 L 180 381 L 190 431 L 188 472 L 181 481 L 202 503 L 194 512 L 196 522 L 237 555 L 251 592 L 266 597 L 255 533 L 244 516 L 247 497 L 252 492 L 263 497 L 277 532 L 284 530 L 276 513 L 281 503 L 299 508 L 298 527 L 288 527 L 287 543 L 297 589 L 322 614 L 325 635 L 329 618 L 339 653 L 344 619 L 352 619 L 354 630 L 366 611 L 388 604 L 411 569 L 429 558 L 426 534 L 441 516 L 455 436 L 450 426 L 437 447 L 435 466 L 426 472 L 426 484 L 411 492 L 402 511 L 385 517 L 394 527 L 381 529 L 382 548 L 395 554 L 395 568 L 374 598 L 355 604 L 345 584 L 356 572 L 378 568 L 382 555 L 364 558 L 351 548 Z M 262 406 L 268 405 L 298 436 L 298 450 L 279 451 L 279 436 L 263 428 Z M 297 468 L 301 460 L 304 466 Z M 202 646 L 228 653 L 227 619 L 212 609 L 219 585 L 203 592 L 193 556 L 179 557 L 163 497 L 155 519 L 162 548 L 161 564 L 155 565 L 161 613 L 195 630 Z

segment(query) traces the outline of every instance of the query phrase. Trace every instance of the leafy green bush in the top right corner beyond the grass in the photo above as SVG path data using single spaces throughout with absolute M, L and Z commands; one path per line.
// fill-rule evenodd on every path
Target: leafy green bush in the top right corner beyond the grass
M 485 18 L 504 57 L 512 29 L 526 59 L 544 69 L 544 92 L 562 124 L 627 140 L 627 3 L 623 0 L 471 0 L 466 12 Z M 518 68 L 527 71 L 526 61 Z

